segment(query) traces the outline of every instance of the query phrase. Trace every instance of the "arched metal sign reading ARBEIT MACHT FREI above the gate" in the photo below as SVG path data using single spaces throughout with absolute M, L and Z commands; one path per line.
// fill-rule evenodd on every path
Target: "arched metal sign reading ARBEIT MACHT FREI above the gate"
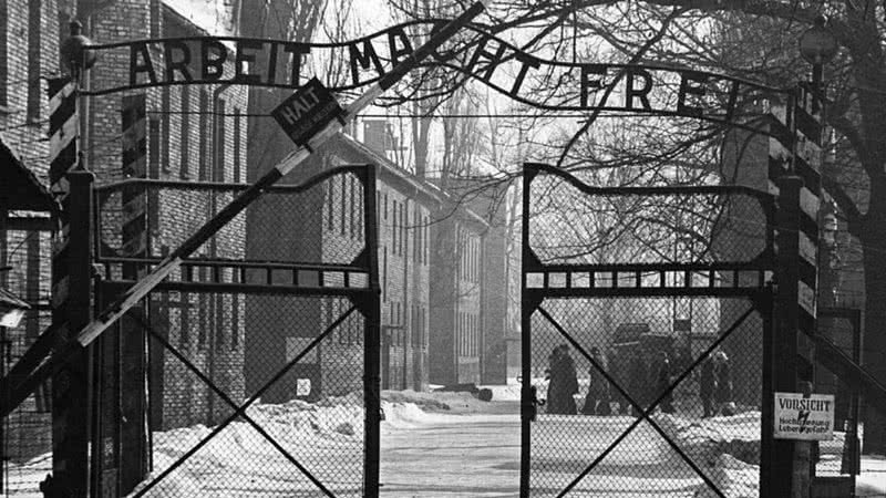
M 412 53 L 408 32 L 433 32 L 444 21 L 410 22 L 342 43 L 296 43 L 250 38 L 192 37 L 93 45 L 103 59 L 128 61 L 128 77 L 103 80 L 83 94 L 177 84 L 230 83 L 296 89 L 318 76 L 333 92 L 369 85 Z M 316 74 L 334 64 L 343 81 Z M 444 65 L 481 80 L 528 107 L 686 116 L 742 126 L 783 101 L 789 90 L 722 74 L 667 65 L 560 62 L 536 58 L 472 28 L 426 65 Z

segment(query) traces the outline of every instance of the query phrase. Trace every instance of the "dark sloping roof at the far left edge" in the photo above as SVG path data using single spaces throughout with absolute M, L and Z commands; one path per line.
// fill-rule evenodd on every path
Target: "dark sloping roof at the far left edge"
M 22 164 L 18 153 L 0 133 L 0 204 L 7 209 L 58 211 L 49 189 Z

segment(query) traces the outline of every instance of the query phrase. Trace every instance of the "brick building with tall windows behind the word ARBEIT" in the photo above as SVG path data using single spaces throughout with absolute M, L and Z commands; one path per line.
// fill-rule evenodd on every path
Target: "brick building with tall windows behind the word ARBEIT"
M 179 2 L 181 3 L 181 2 Z M 93 12 L 90 38 L 95 43 L 137 39 L 226 34 L 196 25 L 175 2 L 117 0 Z M 233 7 L 231 7 L 233 9 Z M 151 56 L 158 66 L 165 54 Z M 231 58 L 228 58 L 230 61 Z M 105 51 L 90 71 L 91 87 L 112 86 L 130 70 L 127 51 Z M 194 61 L 193 65 L 197 65 Z M 231 63 L 228 62 L 228 65 Z M 192 68 L 194 74 L 200 70 Z M 188 183 L 244 183 L 246 180 L 247 91 L 236 85 L 169 85 L 90 97 L 86 164 L 99 184 L 124 178 L 121 108 L 126 96 L 143 93 L 146 102 L 146 176 Z M 146 189 L 147 249 L 154 258 L 178 247 L 233 198 L 231 191 L 181 187 Z M 101 199 L 102 238 L 121 251 L 120 198 Z M 229 224 L 192 258 L 195 260 L 243 259 L 245 226 Z M 107 277 L 119 278 L 112 274 Z M 183 267 L 174 280 L 231 281 L 231 272 L 216 276 L 205 266 Z M 178 347 L 233 398 L 243 397 L 245 298 L 207 292 L 155 292 L 152 294 L 155 330 Z M 220 416 L 222 404 L 202 381 L 187 372 L 158 344 L 152 344 L 152 418 L 154 427 L 171 428 L 210 424 Z

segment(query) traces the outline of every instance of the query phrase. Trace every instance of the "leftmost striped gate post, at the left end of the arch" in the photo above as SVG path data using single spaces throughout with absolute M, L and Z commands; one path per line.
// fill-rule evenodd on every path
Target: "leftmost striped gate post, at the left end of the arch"
M 92 320 L 91 216 L 94 177 L 79 156 L 76 84 L 49 81 L 50 185 L 61 201 L 52 248 L 52 321 L 60 341 Z M 79 170 L 75 170 L 78 168 Z M 53 353 L 54 354 L 54 353 Z M 79 351 L 52 376 L 52 475 L 40 489 L 48 498 L 85 497 L 90 489 L 90 352 Z

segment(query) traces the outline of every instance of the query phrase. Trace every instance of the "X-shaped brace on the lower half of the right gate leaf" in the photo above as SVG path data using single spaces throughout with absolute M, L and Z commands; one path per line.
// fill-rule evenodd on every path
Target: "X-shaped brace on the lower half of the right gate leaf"
M 621 443 L 621 440 L 622 440 L 622 439 L 625 439 L 626 437 L 628 437 L 628 435 L 629 435 L 629 434 L 630 434 L 630 433 L 631 433 L 631 432 L 632 432 L 632 430 L 633 430 L 633 429 L 635 429 L 635 428 L 636 428 L 638 425 L 640 425 L 640 423 L 641 423 L 641 422 L 646 421 L 646 422 L 648 422 L 648 423 L 649 423 L 649 425 L 650 425 L 650 426 L 652 426 L 652 428 L 653 428 L 653 429 L 656 429 L 656 432 L 657 432 L 657 433 L 658 433 L 658 434 L 659 434 L 659 435 L 660 435 L 660 436 L 661 436 L 661 437 L 664 439 L 664 442 L 666 442 L 666 443 L 668 443 L 668 445 L 669 445 L 669 446 L 670 446 L 670 447 L 671 447 L 671 448 L 672 448 L 674 452 L 677 452 L 677 454 L 678 454 L 678 455 L 680 455 L 680 457 L 681 457 L 681 458 L 682 458 L 682 459 L 683 459 L 683 460 L 684 460 L 684 461 L 686 461 L 686 463 L 687 463 L 687 464 L 688 464 L 690 467 L 692 467 L 692 470 L 694 470 L 694 471 L 696 471 L 696 474 L 698 474 L 698 475 L 699 475 L 699 477 L 701 477 L 701 479 L 704 481 L 704 484 L 707 484 L 707 485 L 710 487 L 710 489 L 712 489 L 714 492 L 717 492 L 717 495 L 718 495 L 718 496 L 720 496 L 721 498 L 725 498 L 725 495 L 723 495 L 723 494 L 722 494 L 722 491 L 720 491 L 720 490 L 717 488 L 717 485 L 715 485 L 713 481 L 711 481 L 711 479 L 710 479 L 708 476 L 705 476 L 705 475 L 704 475 L 704 473 L 703 473 L 703 471 L 702 471 L 702 470 L 701 470 L 701 469 L 698 467 L 698 465 L 696 465 L 696 463 L 694 463 L 694 461 L 692 461 L 692 459 L 691 459 L 691 458 L 690 458 L 690 457 L 689 457 L 689 456 L 688 456 L 688 455 L 687 455 L 687 454 L 686 454 L 686 453 L 684 453 L 684 452 L 683 452 L 683 450 L 682 450 L 682 449 L 681 449 L 681 448 L 680 448 L 680 447 L 677 445 L 677 443 L 674 443 L 674 442 L 673 442 L 673 440 L 672 440 L 672 439 L 671 439 L 671 438 L 670 438 L 670 437 L 667 435 L 667 433 L 664 433 L 664 430 L 663 430 L 663 429 L 662 429 L 662 428 L 661 428 L 661 427 L 660 427 L 660 426 L 659 426 L 659 425 L 658 425 L 658 424 L 657 424 L 657 423 L 656 423 L 656 422 L 655 422 L 652 418 L 650 418 L 649 416 L 652 414 L 652 412 L 655 412 L 655 411 L 656 411 L 656 407 L 658 407 L 659 403 L 661 403 L 661 402 L 662 402 L 662 401 L 663 401 L 666 397 L 668 397 L 668 395 L 669 395 L 669 394 L 671 394 L 671 393 L 673 392 L 674 387 L 677 387 L 677 385 L 678 385 L 678 384 L 680 384 L 680 382 L 682 382 L 682 381 L 683 381 L 683 378 L 686 378 L 686 377 L 689 375 L 689 373 L 690 373 L 690 372 L 692 372 L 692 370 L 693 370 L 696 366 L 698 366 L 699 364 L 701 364 L 701 362 L 702 362 L 702 361 L 704 361 L 704 359 L 705 359 L 705 357 L 708 357 L 708 355 L 709 355 L 709 354 L 711 354 L 711 353 L 712 353 L 714 350 L 717 350 L 717 347 L 719 347 L 719 346 L 720 346 L 720 344 L 721 344 L 723 341 L 725 341 L 725 340 L 727 340 L 727 339 L 728 339 L 730 335 L 732 335 L 732 333 L 733 333 L 735 330 L 738 330 L 738 329 L 739 329 L 739 326 L 741 326 L 741 324 L 744 322 L 744 320 L 746 320 L 746 319 L 748 319 L 748 317 L 750 317 L 750 315 L 751 315 L 751 313 L 753 313 L 753 311 L 754 311 L 754 308 L 753 308 L 753 307 L 750 307 L 750 308 L 748 309 L 748 311 L 745 311 L 744 313 L 742 313 L 742 314 L 741 314 L 741 317 L 739 317 L 738 319 L 735 319 L 735 322 L 734 322 L 734 323 L 733 323 L 733 324 L 732 324 L 732 325 L 731 325 L 729 329 L 727 329 L 727 330 L 725 330 L 725 331 L 724 331 L 724 332 L 723 332 L 723 333 L 720 335 L 720 338 L 718 338 L 718 339 L 717 339 L 717 340 L 715 340 L 715 341 L 714 341 L 714 342 L 713 342 L 713 343 L 712 343 L 712 344 L 711 344 L 711 345 L 710 345 L 710 346 L 709 346 L 707 350 L 704 350 L 704 352 L 703 352 L 701 355 L 699 355 L 699 357 L 698 357 L 698 359 L 696 359 L 696 360 L 692 362 L 692 364 L 691 364 L 691 365 L 689 365 L 688 367 L 686 367 L 686 369 L 683 370 L 683 373 L 681 373 L 680 375 L 678 375 L 678 376 L 677 376 L 677 380 L 674 380 L 674 381 L 673 381 L 673 382 L 672 382 L 672 383 L 671 383 L 671 384 L 668 386 L 668 388 L 667 388 L 667 390 L 664 390 L 664 392 L 662 392 L 662 393 L 661 393 L 661 394 L 660 394 L 660 395 L 659 395 L 659 396 L 658 396 L 658 397 L 657 397 L 657 398 L 656 398 L 656 400 L 655 400 L 655 401 L 653 401 L 653 402 L 652 402 L 652 403 L 649 405 L 649 407 L 647 407 L 646 409 L 643 409 L 643 407 L 642 407 L 642 406 L 640 406 L 640 404 L 639 404 L 639 403 L 637 403 L 637 402 L 633 400 L 633 397 L 632 397 L 632 396 L 630 396 L 630 395 L 628 394 L 628 392 L 627 392 L 627 391 L 626 391 L 624 387 L 621 387 L 621 385 L 619 385 L 619 383 L 618 383 L 618 382 L 616 382 L 616 380 L 615 380 L 615 378 L 614 378 L 614 377 L 612 377 L 612 376 L 609 374 L 609 372 L 607 372 L 607 371 L 606 371 L 606 369 L 604 369 L 604 367 L 602 367 L 602 365 L 600 365 L 600 364 L 599 364 L 599 363 L 598 363 L 596 360 L 594 360 L 594 357 L 593 357 L 590 354 L 588 354 L 588 352 L 587 352 L 587 351 L 585 351 L 585 349 L 581 346 L 581 344 L 579 344 L 579 343 L 578 343 L 578 341 L 576 341 L 576 340 L 575 340 L 575 339 L 574 339 L 574 338 L 573 338 L 573 336 L 571 336 L 571 335 L 570 335 L 570 334 L 569 334 L 569 333 L 568 333 L 568 332 L 567 332 L 567 331 L 566 331 L 566 330 L 565 330 L 565 329 L 564 329 L 562 325 L 560 325 L 560 324 L 559 324 L 559 322 L 557 322 L 557 320 L 556 320 L 556 319 L 554 319 L 554 317 L 552 317 L 552 315 L 550 315 L 550 313 L 548 313 L 548 312 L 547 312 L 547 310 L 545 310 L 545 309 L 544 309 L 544 308 L 542 308 L 540 305 L 538 305 L 538 307 L 536 308 L 536 310 L 538 310 L 538 312 L 539 312 L 539 313 L 540 313 L 540 314 L 542 314 L 542 315 L 543 315 L 545 319 L 547 319 L 547 320 L 550 322 L 550 324 L 552 324 L 552 325 L 554 325 L 554 328 L 555 328 L 555 329 L 557 329 L 557 332 L 559 332 L 559 333 L 560 333 L 560 335 L 563 335 L 564 338 L 566 338 L 566 340 L 567 340 L 567 341 L 569 341 L 569 343 L 573 345 L 573 347 L 575 347 L 575 349 L 576 349 L 576 350 L 577 350 L 579 353 L 581 353 L 581 355 L 583 355 L 583 356 L 585 356 L 585 359 L 587 359 L 587 360 L 590 362 L 590 364 L 594 366 L 594 369 L 596 369 L 598 372 L 600 372 L 600 374 L 602 374 L 602 376 L 604 376 L 604 377 L 606 377 L 606 381 L 607 381 L 607 382 L 609 382 L 609 385 L 614 386 L 614 387 L 615 387 L 615 388 L 616 388 L 616 390 L 619 392 L 619 394 L 621 394 L 621 396 L 624 396 L 624 398 L 625 398 L 625 400 L 627 400 L 627 401 L 628 401 L 628 402 L 631 404 L 631 406 L 633 407 L 633 409 L 635 409 L 635 411 L 638 411 L 638 412 L 640 412 L 640 416 L 639 416 L 639 417 L 637 417 L 637 419 L 636 419 L 636 421 L 633 421 L 633 423 L 631 423 L 631 424 L 630 424 L 630 425 L 629 425 L 629 426 L 628 426 L 628 427 L 627 427 L 627 428 L 626 428 L 626 429 L 625 429 L 625 430 L 624 430 L 624 432 L 622 432 L 622 433 L 621 433 L 621 434 L 620 434 L 618 437 L 616 437 L 616 438 L 612 440 L 612 443 L 611 443 L 611 444 L 610 444 L 610 445 L 609 445 L 609 446 L 608 446 L 608 447 L 607 447 L 607 448 L 606 448 L 606 449 L 605 449 L 602 453 L 600 453 L 600 455 L 598 455 L 598 456 L 597 456 L 597 458 L 595 458 L 595 459 L 594 459 L 594 461 L 591 461 L 590 464 L 588 464 L 588 466 L 587 466 L 587 467 L 586 467 L 586 468 L 585 468 L 585 469 L 584 469 L 581 473 L 579 473 L 579 474 L 578 474 L 578 476 L 577 476 L 575 479 L 573 479 L 573 481 L 571 481 L 571 483 L 569 483 L 569 484 L 566 486 L 566 488 L 564 488 L 564 489 L 563 489 L 563 491 L 560 491 L 560 494 L 559 494 L 559 495 L 557 495 L 558 497 L 566 496 L 566 494 L 567 494 L 567 492 L 569 492 L 569 491 L 570 491 L 570 490 L 571 490 L 571 489 L 573 489 L 573 488 L 574 488 L 576 485 L 578 485 L 578 483 L 580 483 L 580 481 L 581 481 L 581 479 L 584 479 L 584 478 L 585 478 L 585 476 L 587 476 L 587 475 L 588 475 L 588 474 L 589 474 L 589 473 L 590 473 L 590 471 L 594 469 L 594 467 L 596 467 L 596 466 L 597 466 L 597 464 L 599 464 L 600 461 L 602 461 L 602 459 L 604 459 L 604 458 L 606 458 L 606 456 L 607 456 L 607 455 L 609 455 L 609 453 L 610 453 L 610 452 L 612 452 L 612 449 L 615 449 L 615 448 L 616 448 L 616 446 L 618 446 L 618 444 L 619 444 L 619 443 Z

